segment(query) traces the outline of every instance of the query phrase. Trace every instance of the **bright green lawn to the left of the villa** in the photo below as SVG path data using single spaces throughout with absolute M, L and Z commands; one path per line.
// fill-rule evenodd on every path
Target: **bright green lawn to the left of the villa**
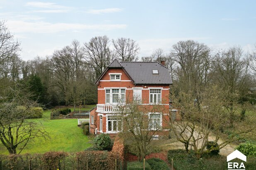
M 87 105 L 82 110 L 90 110 L 95 105 Z M 71 110 L 73 110 L 70 107 Z M 77 127 L 77 119 L 57 119 L 50 120 L 51 111 L 44 111 L 42 122 L 49 139 L 31 140 L 23 149 L 24 153 L 44 153 L 46 151 L 83 151 L 91 146 L 90 140 L 82 133 L 82 129 Z M 37 120 L 33 120 L 37 121 Z M 19 146 L 17 152 L 19 151 Z M 7 149 L 0 143 L 0 154 L 8 154 Z

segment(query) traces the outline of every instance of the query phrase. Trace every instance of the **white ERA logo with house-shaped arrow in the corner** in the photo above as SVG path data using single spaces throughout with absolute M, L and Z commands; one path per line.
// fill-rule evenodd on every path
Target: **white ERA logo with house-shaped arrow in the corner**
M 239 152 L 238 150 L 235 150 L 234 152 L 230 153 L 227 156 L 227 162 L 228 162 L 227 163 L 227 169 L 228 170 L 234 170 L 234 169 L 245 170 L 244 163 L 241 163 L 239 165 L 239 163 L 237 163 L 237 162 L 229 162 L 229 161 L 232 161 L 235 158 L 241 159 L 242 161 L 246 162 L 246 156 L 243 153 Z

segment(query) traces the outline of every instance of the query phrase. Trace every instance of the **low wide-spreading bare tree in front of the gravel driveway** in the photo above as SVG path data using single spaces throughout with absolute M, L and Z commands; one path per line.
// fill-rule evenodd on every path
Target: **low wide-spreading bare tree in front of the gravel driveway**
M 172 120 L 170 128 L 176 139 L 183 143 L 186 151 L 193 149 L 198 158 L 203 153 L 219 150 L 227 144 L 241 139 L 241 134 L 251 131 L 250 121 L 248 126 L 232 129 L 229 136 L 223 130 L 229 126 L 229 115 L 225 106 L 229 100 L 225 97 L 225 90 L 217 86 L 208 87 L 201 93 L 201 103 L 196 105 L 193 101 L 192 92 L 179 92 L 177 96 L 172 96 L 175 108 L 180 108 L 181 120 Z M 206 150 L 208 142 L 213 142 L 210 150 Z

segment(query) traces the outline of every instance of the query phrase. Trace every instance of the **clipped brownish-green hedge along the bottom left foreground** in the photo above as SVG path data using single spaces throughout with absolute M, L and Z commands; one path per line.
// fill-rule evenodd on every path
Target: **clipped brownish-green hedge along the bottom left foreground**
M 117 160 L 117 165 L 115 163 Z M 115 165 L 121 169 L 121 159 L 118 154 L 107 151 L 81 151 L 77 153 L 67 153 L 60 151 L 50 151 L 43 154 L 12 154 L 0 155 L 3 170 L 113 170 Z

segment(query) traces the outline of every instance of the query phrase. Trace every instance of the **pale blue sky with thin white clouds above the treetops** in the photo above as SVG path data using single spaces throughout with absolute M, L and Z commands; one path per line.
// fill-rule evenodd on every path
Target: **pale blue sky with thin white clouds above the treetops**
M 188 39 L 244 52 L 256 43 L 256 0 L 0 0 L 0 20 L 25 60 L 99 35 L 136 40 L 140 57 Z

